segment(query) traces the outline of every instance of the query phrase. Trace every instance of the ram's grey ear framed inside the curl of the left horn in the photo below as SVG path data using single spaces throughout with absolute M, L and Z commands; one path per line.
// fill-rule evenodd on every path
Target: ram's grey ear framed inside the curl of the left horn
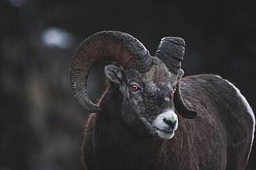
M 106 65 L 104 67 L 104 74 L 109 81 L 120 85 L 123 81 L 124 70 L 115 65 Z

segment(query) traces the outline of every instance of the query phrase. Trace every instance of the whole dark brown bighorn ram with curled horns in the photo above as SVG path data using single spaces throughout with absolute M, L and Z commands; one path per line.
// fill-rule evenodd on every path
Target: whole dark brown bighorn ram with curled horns
M 220 76 L 182 78 L 184 52 L 183 39 L 169 36 L 151 56 L 140 41 L 116 31 L 95 33 L 80 44 L 71 88 L 93 112 L 83 147 L 89 170 L 246 168 L 255 130 L 250 105 Z M 104 67 L 109 87 L 95 105 L 87 78 L 104 59 L 121 66 Z

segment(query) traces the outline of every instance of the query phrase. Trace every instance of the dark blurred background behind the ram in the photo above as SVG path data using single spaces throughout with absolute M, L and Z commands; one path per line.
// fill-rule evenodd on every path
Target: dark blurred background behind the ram
M 181 36 L 185 75 L 219 74 L 256 107 L 256 1 L 0 0 L 1 170 L 83 169 L 88 113 L 68 74 L 77 45 L 100 30 L 132 34 L 152 54 L 163 36 Z M 102 66 L 90 75 L 94 100 Z

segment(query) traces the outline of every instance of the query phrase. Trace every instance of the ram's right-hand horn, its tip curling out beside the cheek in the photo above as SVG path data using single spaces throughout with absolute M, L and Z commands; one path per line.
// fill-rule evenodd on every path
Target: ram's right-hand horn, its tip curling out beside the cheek
M 185 41 L 179 37 L 168 36 L 161 39 L 156 56 L 158 56 L 163 63 L 169 68 L 170 72 L 178 74 L 178 70 L 181 68 L 181 61 L 185 54 Z M 195 118 L 196 112 L 188 109 L 185 106 L 182 95 L 181 85 L 178 82 L 176 84 L 176 92 L 174 94 L 174 106 L 184 118 Z

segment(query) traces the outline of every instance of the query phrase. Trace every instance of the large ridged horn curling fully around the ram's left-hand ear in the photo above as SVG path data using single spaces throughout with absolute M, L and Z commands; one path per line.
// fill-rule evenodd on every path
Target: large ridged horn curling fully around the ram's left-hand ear
M 70 83 L 75 98 L 89 111 L 100 111 L 100 107 L 89 98 L 87 78 L 93 65 L 104 59 L 117 61 L 125 68 L 134 67 L 139 72 L 147 72 L 152 63 L 149 51 L 127 33 L 102 31 L 85 39 L 73 56 Z

